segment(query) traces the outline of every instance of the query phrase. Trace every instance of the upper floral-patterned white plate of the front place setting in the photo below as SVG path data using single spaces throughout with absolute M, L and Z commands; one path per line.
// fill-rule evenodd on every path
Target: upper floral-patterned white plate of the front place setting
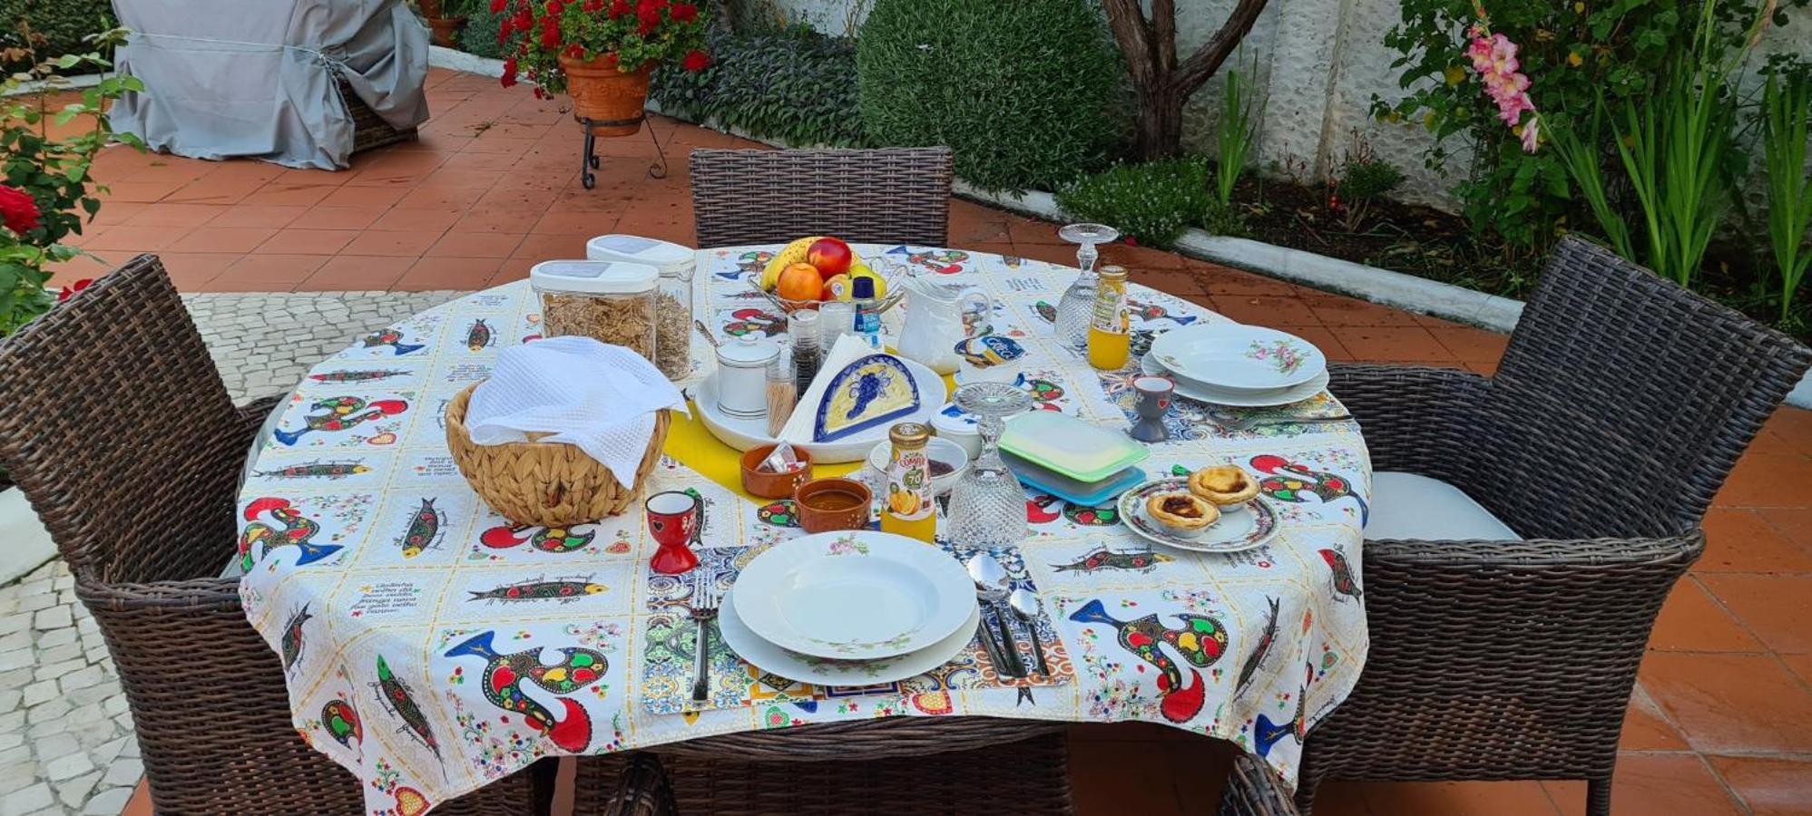
M 810 657 L 875 660 L 957 631 L 975 604 L 969 572 L 906 536 L 834 530 L 765 550 L 736 579 L 743 622 Z M 765 666 L 766 668 L 766 666 Z

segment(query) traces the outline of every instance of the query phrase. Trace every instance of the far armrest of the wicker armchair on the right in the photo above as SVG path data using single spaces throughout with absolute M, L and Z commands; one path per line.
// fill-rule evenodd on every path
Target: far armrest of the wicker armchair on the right
M 1330 364 L 1328 391 L 1359 420 L 1375 470 L 1459 483 L 1491 380 L 1424 365 Z

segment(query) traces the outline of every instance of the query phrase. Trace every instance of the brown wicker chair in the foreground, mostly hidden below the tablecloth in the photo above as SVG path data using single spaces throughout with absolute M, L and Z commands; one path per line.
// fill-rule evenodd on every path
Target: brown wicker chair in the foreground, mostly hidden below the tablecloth
M 660 745 L 681 814 L 1075 812 L 1067 726 L 895 716 Z M 573 812 L 607 805 L 616 765 L 580 758 Z

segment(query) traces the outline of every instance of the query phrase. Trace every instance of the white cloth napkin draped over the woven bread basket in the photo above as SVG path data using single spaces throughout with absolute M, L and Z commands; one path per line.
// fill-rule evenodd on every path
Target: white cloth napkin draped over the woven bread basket
M 685 396 L 641 355 L 589 337 L 551 337 L 496 355 L 491 378 L 466 407 L 478 445 L 536 441 L 578 445 L 632 485 L 654 436 L 654 411 L 685 411 Z

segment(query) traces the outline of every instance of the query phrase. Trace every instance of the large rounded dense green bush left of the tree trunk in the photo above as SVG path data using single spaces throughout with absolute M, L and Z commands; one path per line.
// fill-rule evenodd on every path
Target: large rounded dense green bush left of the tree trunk
M 855 47 L 879 145 L 949 145 L 988 190 L 1053 190 L 1105 165 L 1123 71 L 1082 0 L 877 0 Z

